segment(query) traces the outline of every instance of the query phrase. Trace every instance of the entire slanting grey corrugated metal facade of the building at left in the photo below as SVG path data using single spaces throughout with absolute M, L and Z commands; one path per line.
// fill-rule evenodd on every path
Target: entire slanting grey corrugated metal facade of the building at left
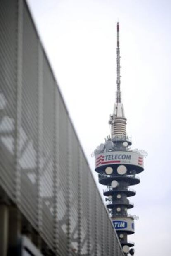
M 54 254 L 123 255 L 23 0 L 0 1 L 0 186 Z

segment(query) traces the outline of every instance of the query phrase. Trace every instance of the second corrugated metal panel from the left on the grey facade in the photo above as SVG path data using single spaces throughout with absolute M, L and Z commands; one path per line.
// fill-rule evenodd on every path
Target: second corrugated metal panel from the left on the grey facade
M 38 152 L 38 38 L 25 5 L 23 8 L 20 136 L 21 210 L 31 224 L 35 226 L 37 214 L 36 172 Z

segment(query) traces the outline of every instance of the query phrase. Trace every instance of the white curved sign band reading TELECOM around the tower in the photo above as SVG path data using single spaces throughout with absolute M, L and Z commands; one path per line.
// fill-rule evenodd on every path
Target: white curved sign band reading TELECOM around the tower
M 108 164 L 133 164 L 143 168 L 143 156 L 131 151 L 104 152 L 95 156 L 95 168 Z

